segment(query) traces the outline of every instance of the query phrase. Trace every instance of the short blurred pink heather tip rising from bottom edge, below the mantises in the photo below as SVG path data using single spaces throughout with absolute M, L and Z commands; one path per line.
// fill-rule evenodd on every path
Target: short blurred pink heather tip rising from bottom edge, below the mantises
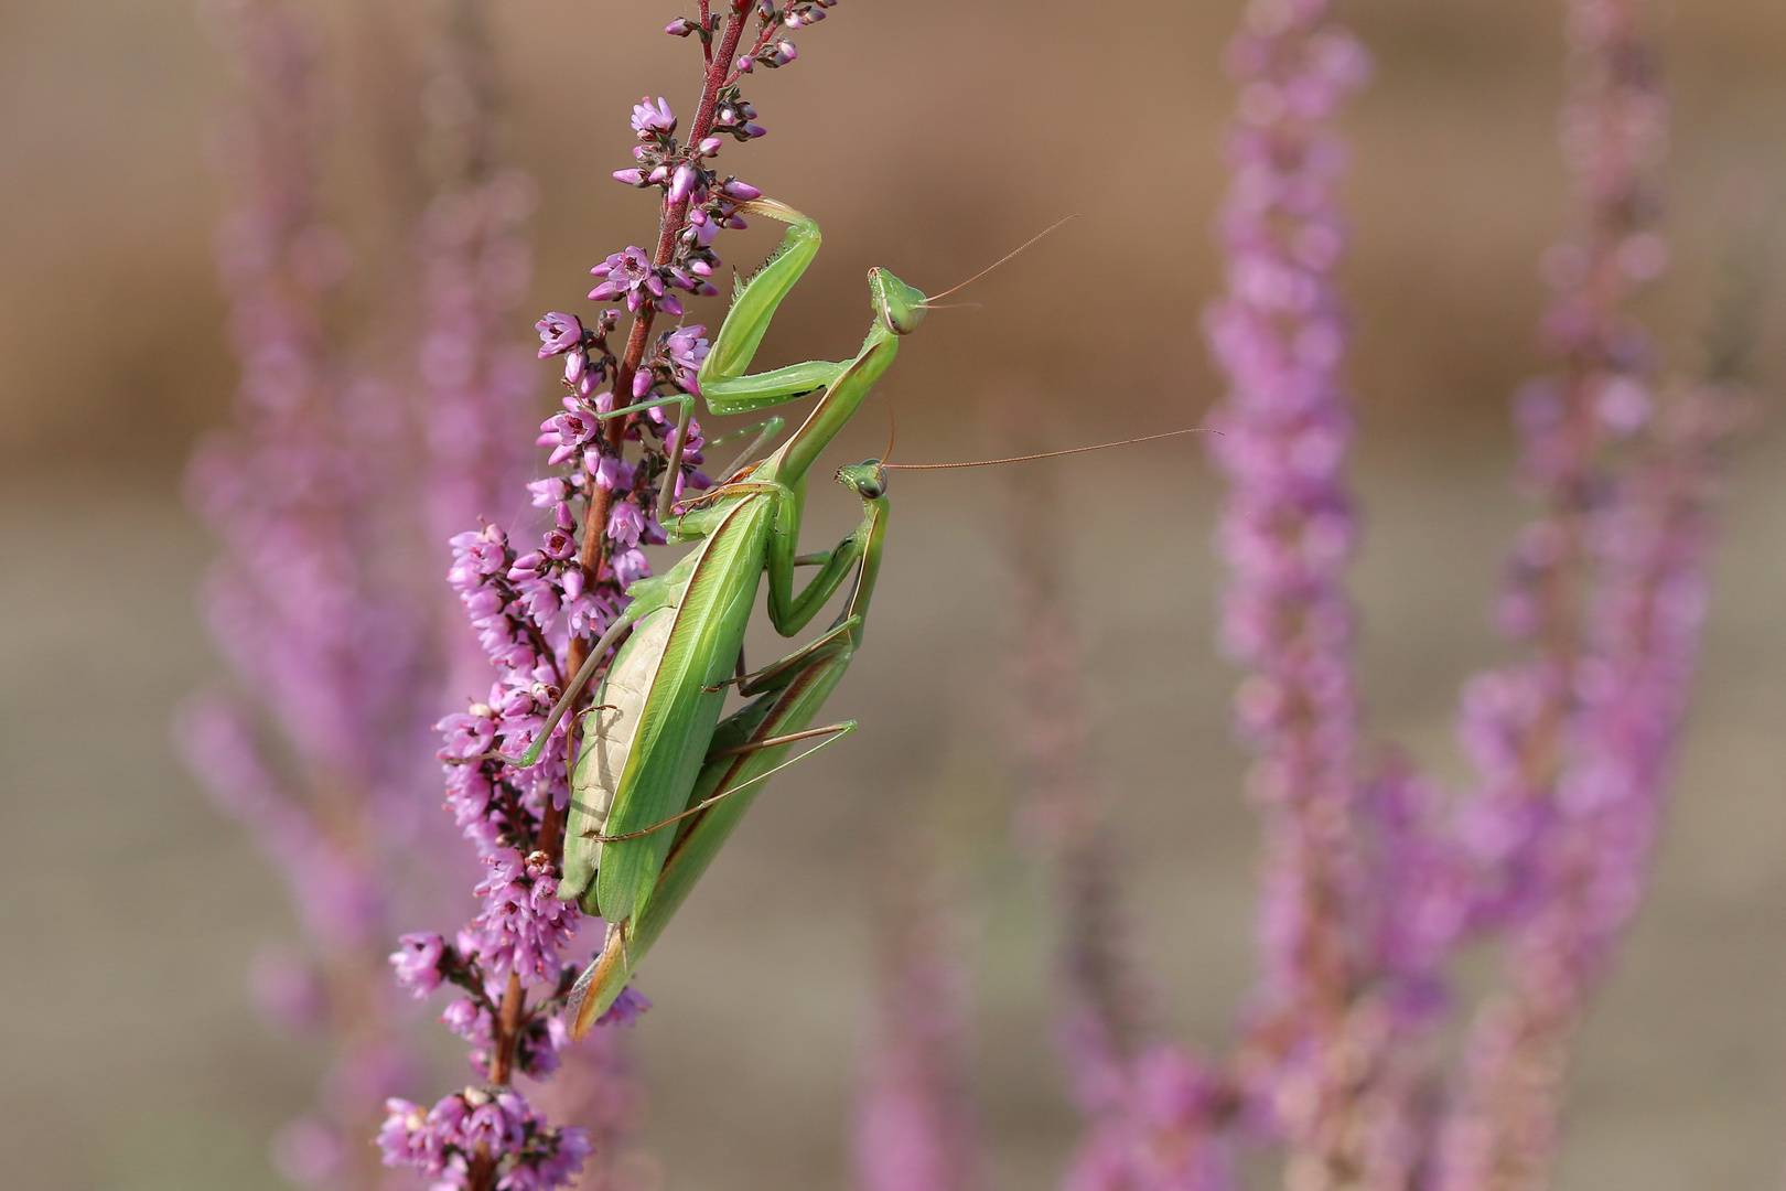
M 909 855 L 902 850 L 893 855 Z M 968 973 L 938 868 L 888 864 L 875 1007 L 855 1095 L 861 1191 L 973 1191 L 984 1155 L 968 1098 Z

